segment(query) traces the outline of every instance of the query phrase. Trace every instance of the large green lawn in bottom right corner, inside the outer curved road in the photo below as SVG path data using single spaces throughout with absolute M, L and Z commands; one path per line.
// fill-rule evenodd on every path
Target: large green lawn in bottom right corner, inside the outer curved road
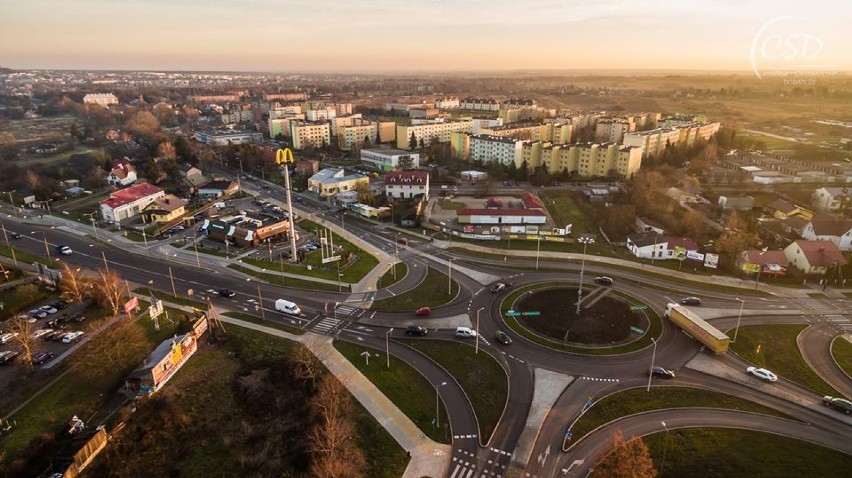
M 852 455 L 770 433 L 698 428 L 645 437 L 661 476 L 690 478 L 845 478 Z

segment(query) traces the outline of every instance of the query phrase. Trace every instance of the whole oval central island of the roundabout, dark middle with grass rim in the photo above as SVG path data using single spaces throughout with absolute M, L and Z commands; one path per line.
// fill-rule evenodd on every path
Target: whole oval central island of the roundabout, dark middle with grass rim
M 571 282 L 520 287 L 506 296 L 500 312 L 507 326 L 524 338 L 580 354 L 633 352 L 650 345 L 662 331 L 660 317 L 638 299 L 603 286 L 584 287 L 580 296 Z

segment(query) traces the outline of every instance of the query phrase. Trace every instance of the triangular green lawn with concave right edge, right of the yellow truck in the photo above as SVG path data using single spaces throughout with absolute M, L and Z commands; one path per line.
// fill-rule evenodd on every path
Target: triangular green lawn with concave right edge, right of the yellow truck
M 749 325 L 740 327 L 731 350 L 744 359 L 772 370 L 780 377 L 815 392 L 835 397 L 841 394 L 825 383 L 805 362 L 796 337 L 807 325 Z M 758 346 L 760 347 L 758 351 Z

